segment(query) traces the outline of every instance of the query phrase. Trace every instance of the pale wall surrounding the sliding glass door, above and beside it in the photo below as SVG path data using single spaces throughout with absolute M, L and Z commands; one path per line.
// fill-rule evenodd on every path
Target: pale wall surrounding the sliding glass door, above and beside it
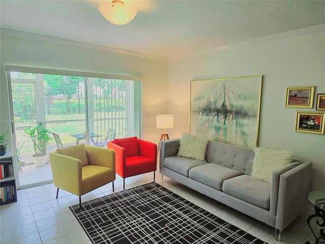
M 143 139 L 158 143 L 160 130 L 155 127 L 155 115 L 167 113 L 166 60 L 2 34 L 0 120 L 3 121 L 10 119 L 4 64 L 145 77 Z M 10 125 L 0 124 L 0 130 L 10 131 Z

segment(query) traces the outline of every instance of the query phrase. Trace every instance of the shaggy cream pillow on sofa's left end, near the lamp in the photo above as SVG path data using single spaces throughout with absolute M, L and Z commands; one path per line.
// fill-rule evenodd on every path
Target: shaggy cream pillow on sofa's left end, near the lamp
M 208 139 L 182 133 L 178 156 L 205 161 Z

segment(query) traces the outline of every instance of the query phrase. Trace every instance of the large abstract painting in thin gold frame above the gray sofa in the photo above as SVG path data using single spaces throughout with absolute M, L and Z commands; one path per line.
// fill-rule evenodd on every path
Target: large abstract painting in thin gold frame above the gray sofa
M 258 146 L 262 75 L 192 80 L 192 135 L 227 144 Z

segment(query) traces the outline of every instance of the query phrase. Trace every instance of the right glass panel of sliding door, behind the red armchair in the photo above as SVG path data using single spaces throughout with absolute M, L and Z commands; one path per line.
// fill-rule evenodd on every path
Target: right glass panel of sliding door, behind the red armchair
M 100 135 L 96 141 L 107 142 L 109 130 L 116 138 L 135 135 L 132 87 L 135 81 L 121 79 L 92 78 L 92 96 L 89 98 L 89 130 Z M 139 134 L 138 134 L 139 136 Z M 110 138 L 112 139 L 112 138 Z M 96 144 L 96 141 L 94 143 Z

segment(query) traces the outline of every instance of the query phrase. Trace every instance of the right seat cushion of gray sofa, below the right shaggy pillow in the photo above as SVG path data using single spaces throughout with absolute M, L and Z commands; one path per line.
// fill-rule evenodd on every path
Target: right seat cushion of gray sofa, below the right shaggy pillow
M 256 206 L 270 208 L 271 184 L 250 175 L 224 180 L 222 191 Z

